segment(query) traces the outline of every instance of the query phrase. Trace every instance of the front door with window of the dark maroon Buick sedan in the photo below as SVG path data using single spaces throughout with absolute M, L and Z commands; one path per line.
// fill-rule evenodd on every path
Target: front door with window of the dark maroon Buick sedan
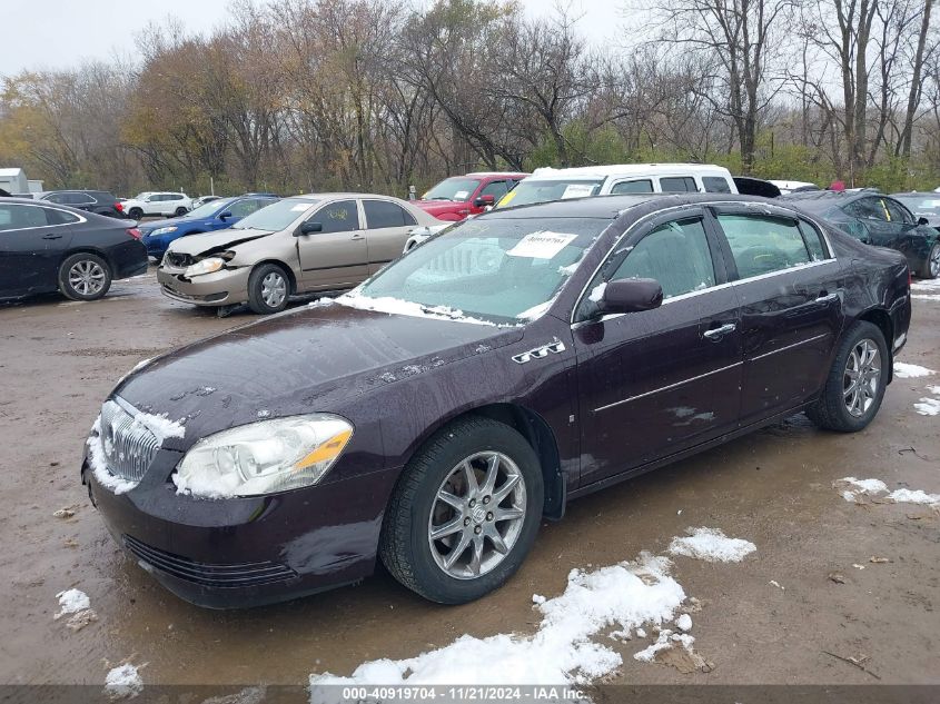
M 663 305 L 590 317 L 574 329 L 582 480 L 604 479 L 736 427 L 741 380 L 738 300 L 701 208 L 652 221 L 615 249 L 588 291 L 653 278 Z M 596 294 L 595 294 L 596 297 Z M 590 300 L 590 297 L 588 297 Z

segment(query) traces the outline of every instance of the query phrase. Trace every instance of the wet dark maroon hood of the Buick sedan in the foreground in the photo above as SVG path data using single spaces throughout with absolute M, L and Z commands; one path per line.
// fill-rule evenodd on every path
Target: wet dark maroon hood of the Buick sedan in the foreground
M 186 427 L 166 447 L 263 418 L 335 410 L 518 340 L 522 328 L 314 304 L 188 345 L 128 375 L 115 394 Z

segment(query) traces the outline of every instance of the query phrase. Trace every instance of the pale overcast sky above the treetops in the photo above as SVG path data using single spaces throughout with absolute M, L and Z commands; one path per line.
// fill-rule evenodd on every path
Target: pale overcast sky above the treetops
M 550 14 L 561 2 L 592 42 L 616 40 L 616 0 L 520 0 L 531 17 Z M 225 21 L 229 0 L 4 0 L 0 12 L 0 75 L 23 69 L 71 68 L 87 59 L 132 57 L 136 34 L 172 14 L 195 31 Z M 620 43 L 620 42 L 619 42 Z

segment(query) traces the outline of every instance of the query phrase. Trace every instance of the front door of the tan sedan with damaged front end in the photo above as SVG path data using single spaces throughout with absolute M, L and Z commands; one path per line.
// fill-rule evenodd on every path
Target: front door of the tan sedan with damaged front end
M 349 288 L 368 276 L 368 245 L 357 200 L 326 204 L 306 221 L 320 227 L 297 237 L 300 284 L 306 290 Z

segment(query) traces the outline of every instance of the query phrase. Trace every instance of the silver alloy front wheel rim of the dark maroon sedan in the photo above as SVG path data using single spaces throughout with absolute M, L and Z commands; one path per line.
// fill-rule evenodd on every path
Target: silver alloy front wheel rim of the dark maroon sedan
M 435 495 L 427 525 L 434 562 L 457 579 L 493 571 L 518 541 L 525 514 L 525 479 L 516 464 L 492 450 L 471 455 Z

